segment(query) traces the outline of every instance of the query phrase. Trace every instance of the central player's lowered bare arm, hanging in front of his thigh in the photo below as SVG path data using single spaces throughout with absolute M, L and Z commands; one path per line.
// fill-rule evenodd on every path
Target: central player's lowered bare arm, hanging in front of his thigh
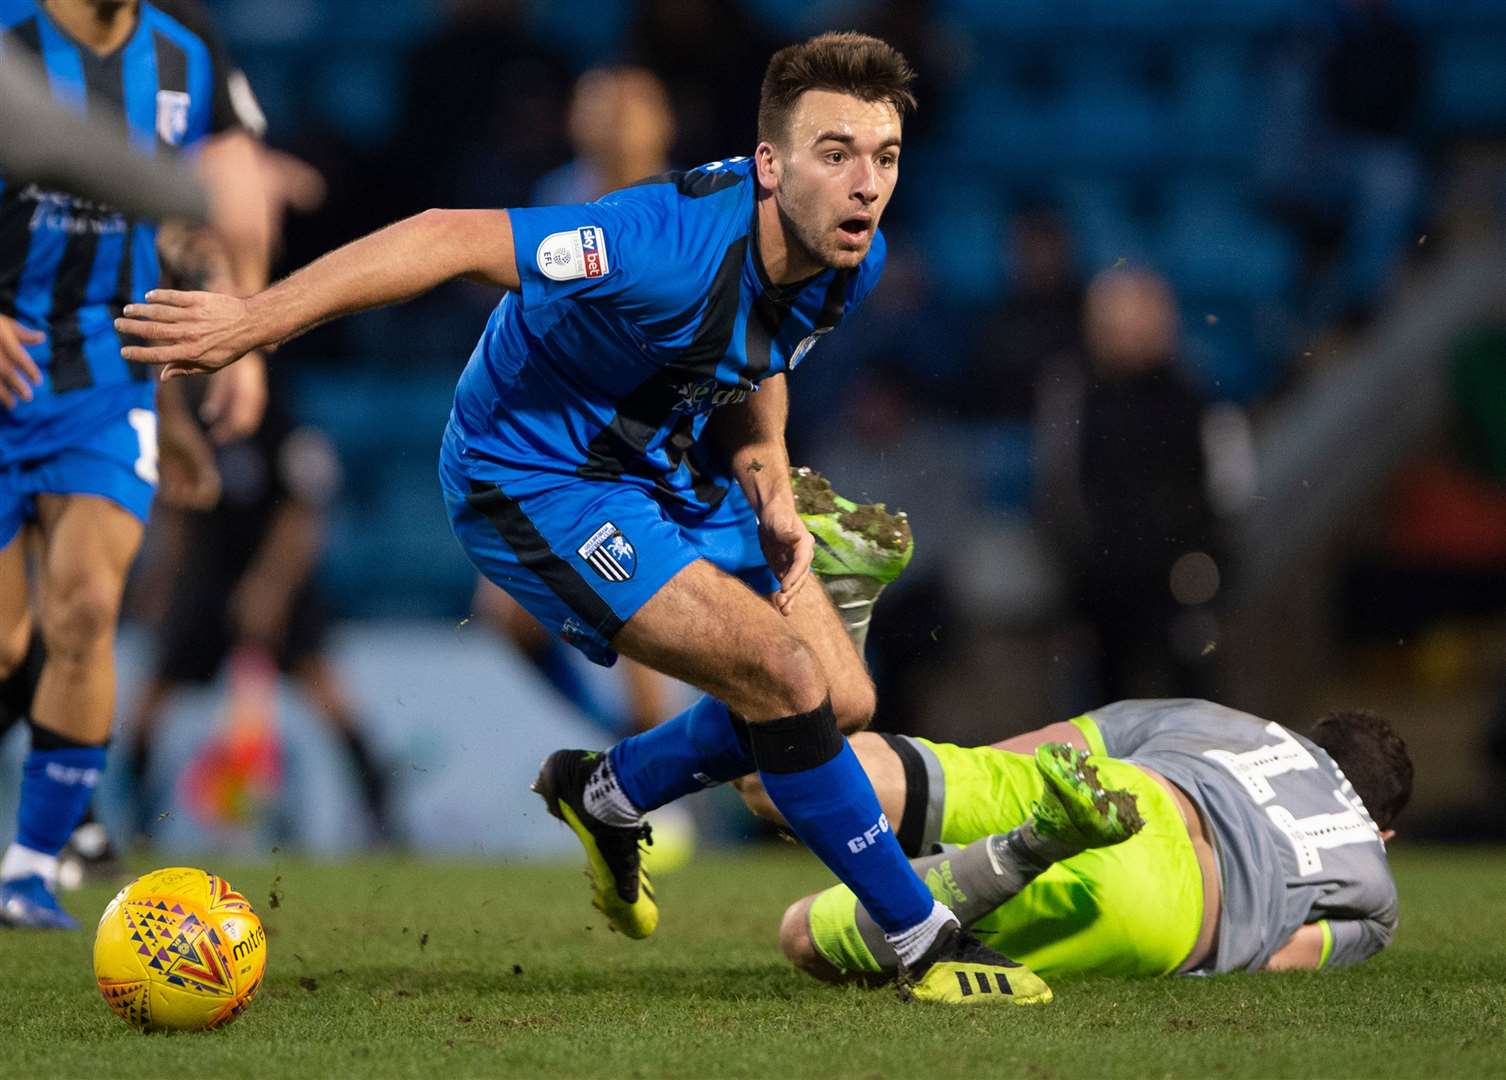
M 806 581 L 815 541 L 795 512 L 789 487 L 789 450 L 785 420 L 789 416 L 789 386 L 771 375 L 738 405 L 718 410 L 712 435 L 732 464 L 742 491 L 759 520 L 759 541 L 770 568 L 779 574 L 774 606 L 788 610 Z

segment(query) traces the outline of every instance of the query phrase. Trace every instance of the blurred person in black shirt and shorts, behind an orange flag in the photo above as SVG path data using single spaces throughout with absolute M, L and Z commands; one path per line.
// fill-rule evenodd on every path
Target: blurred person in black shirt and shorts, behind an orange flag
M 267 657 L 291 675 L 343 746 L 378 834 L 387 834 L 387 779 L 360 717 L 325 652 L 325 613 L 313 571 L 340 464 L 319 432 L 297 426 L 273 383 L 261 429 L 217 449 L 220 505 L 203 514 L 163 512 L 154 527 L 176 551 L 164 586 L 157 669 L 128 726 L 136 827 L 157 813 L 163 777 L 152 776 L 158 726 L 178 691 L 214 679 L 226 657 Z M 244 667 L 245 664 L 242 664 Z

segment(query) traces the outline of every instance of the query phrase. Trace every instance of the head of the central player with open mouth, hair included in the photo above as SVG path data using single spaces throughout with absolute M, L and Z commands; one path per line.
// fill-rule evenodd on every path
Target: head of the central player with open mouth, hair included
M 914 71 L 893 45 L 824 33 L 774 53 L 758 107 L 759 184 L 792 246 L 821 267 L 863 261 L 899 179 Z

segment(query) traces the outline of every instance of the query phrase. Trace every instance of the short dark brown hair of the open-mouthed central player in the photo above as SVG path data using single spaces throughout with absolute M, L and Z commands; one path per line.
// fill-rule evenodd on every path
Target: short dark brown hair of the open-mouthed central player
M 774 53 L 758 99 L 759 142 L 789 133 L 789 114 L 806 90 L 836 90 L 863 101 L 887 101 L 901 119 L 916 110 L 916 72 L 898 48 L 866 33 L 822 33 Z

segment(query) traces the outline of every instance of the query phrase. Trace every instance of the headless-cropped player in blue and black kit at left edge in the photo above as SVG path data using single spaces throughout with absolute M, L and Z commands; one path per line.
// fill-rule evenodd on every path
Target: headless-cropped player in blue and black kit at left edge
M 117 116 L 142 151 L 200 152 L 232 267 L 224 285 L 265 282 L 268 215 L 252 137 L 261 119 L 197 9 L 5 0 L 0 29 L 0 51 L 39 57 L 62 104 Z M 0 862 L 0 919 L 12 925 L 75 925 L 53 896 L 56 856 L 104 768 L 114 622 L 158 482 L 155 386 L 120 360 L 111 319 L 157 276 L 155 223 L 35 182 L 0 188 L 0 672 L 23 682 L 11 690 L 30 699 L 32 720 L 17 841 Z M 253 429 L 264 399 L 253 360 L 211 390 L 212 434 Z M 30 523 L 41 539 L 39 636 Z

